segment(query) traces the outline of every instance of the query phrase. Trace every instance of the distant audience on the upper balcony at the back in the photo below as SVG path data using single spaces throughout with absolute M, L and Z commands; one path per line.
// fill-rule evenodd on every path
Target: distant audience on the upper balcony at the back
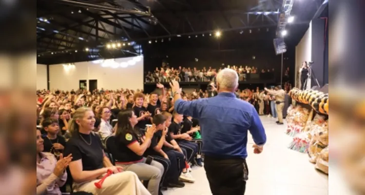
M 218 72 L 222 70 L 222 68 L 230 68 L 237 72 L 239 76 L 239 81 L 246 81 L 250 78 L 274 78 L 275 69 L 272 68 L 261 71 L 258 70 L 255 66 L 230 66 L 217 68 L 206 68 L 199 70 L 196 67 L 186 68 L 179 66 L 178 68 L 169 67 L 166 64 L 163 64 L 162 67 L 154 70 L 154 72 L 148 72 L 145 75 L 146 82 L 170 82 L 171 80 L 177 80 L 179 82 L 209 82 L 215 79 Z

